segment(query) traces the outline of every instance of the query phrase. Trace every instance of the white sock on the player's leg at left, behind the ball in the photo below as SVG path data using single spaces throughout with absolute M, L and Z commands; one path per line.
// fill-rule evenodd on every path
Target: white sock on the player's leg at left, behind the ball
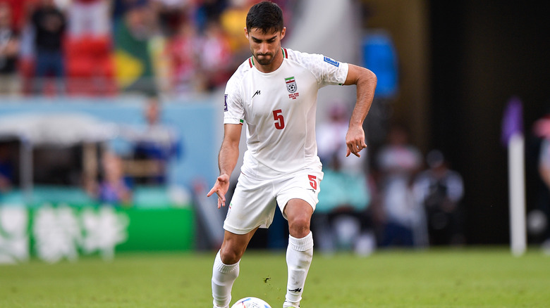
M 239 262 L 231 265 L 224 264 L 224 262 L 221 262 L 218 251 L 212 269 L 212 297 L 214 297 L 214 307 L 229 307 L 229 302 L 231 302 L 231 288 L 233 288 L 233 282 L 235 282 L 238 276 Z

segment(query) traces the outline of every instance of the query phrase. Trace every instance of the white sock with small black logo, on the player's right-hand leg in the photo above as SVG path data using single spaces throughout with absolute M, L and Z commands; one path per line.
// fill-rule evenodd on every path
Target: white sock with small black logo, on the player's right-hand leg
M 305 278 L 310 269 L 312 257 L 313 236 L 311 232 L 304 238 L 288 236 L 288 248 L 286 249 L 286 264 L 288 266 L 286 300 L 288 302 L 302 300 Z

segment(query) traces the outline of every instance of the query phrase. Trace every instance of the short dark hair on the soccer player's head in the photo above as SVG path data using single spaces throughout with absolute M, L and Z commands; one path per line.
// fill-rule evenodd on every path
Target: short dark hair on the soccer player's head
M 246 15 L 246 29 L 257 28 L 263 33 L 283 31 L 283 11 L 271 1 L 262 1 L 250 8 Z

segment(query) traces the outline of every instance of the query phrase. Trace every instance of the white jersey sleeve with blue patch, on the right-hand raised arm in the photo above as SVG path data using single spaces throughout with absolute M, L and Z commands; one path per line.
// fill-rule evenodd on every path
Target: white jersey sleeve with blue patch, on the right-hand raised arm
M 298 62 L 302 63 L 317 78 L 319 88 L 329 84 L 342 85 L 348 77 L 348 63 L 339 62 L 317 53 L 296 53 Z

